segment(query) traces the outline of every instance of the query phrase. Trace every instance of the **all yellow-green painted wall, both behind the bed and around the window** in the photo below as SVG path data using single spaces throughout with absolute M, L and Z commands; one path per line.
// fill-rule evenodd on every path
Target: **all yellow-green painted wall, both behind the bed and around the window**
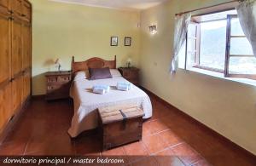
M 70 70 L 72 55 L 112 60 L 117 54 L 118 66 L 131 56 L 145 88 L 256 154 L 255 87 L 196 72 L 168 72 L 174 14 L 227 1 L 170 0 L 138 13 L 33 0 L 32 94 L 45 93 L 44 72 L 55 70 L 57 57 L 62 69 Z M 158 26 L 155 35 L 148 32 L 152 24 Z M 119 36 L 119 47 L 109 46 L 110 36 Z M 124 46 L 125 36 L 132 37 L 131 47 Z

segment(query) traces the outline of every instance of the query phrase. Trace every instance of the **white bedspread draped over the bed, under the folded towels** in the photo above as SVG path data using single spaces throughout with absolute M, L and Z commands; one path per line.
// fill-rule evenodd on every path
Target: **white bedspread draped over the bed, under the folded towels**
M 113 77 L 90 81 L 85 77 L 75 77 L 70 89 L 73 98 L 74 115 L 68 133 L 71 137 L 78 136 L 88 129 L 95 129 L 98 123 L 96 109 L 102 106 L 122 104 L 137 105 L 143 109 L 145 116 L 152 117 L 152 105 L 148 94 L 133 86 L 130 91 L 111 89 L 108 94 L 93 94 L 91 88 L 96 84 L 116 86 L 118 82 L 128 82 L 124 77 Z

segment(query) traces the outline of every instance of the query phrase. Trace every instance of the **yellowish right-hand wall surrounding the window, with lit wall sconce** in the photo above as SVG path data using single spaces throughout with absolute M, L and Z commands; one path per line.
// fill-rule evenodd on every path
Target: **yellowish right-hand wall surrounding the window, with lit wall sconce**
M 224 0 L 172 0 L 141 13 L 140 68 L 143 87 L 219 134 L 256 154 L 256 88 L 224 78 L 178 70 L 170 75 L 174 15 Z M 201 11 L 203 12 L 203 11 Z M 151 35 L 148 26 L 157 24 Z

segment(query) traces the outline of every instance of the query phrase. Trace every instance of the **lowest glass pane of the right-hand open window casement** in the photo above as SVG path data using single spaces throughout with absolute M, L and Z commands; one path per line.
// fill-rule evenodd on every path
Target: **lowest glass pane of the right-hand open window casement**
M 255 57 L 230 57 L 230 74 L 256 74 Z

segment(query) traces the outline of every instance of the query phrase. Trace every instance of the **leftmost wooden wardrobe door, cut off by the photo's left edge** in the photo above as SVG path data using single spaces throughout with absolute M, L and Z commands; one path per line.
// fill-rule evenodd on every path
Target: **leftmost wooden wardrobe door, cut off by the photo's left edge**
M 11 106 L 11 44 L 9 0 L 0 0 L 0 132 L 12 117 Z

